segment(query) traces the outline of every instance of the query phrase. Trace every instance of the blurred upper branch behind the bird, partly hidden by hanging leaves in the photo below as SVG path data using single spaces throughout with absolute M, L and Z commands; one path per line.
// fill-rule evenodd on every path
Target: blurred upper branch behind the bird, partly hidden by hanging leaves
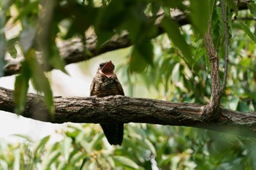
M 247 4 L 249 1 L 244 1 L 238 4 L 238 9 L 247 9 Z M 164 14 L 162 14 L 164 15 Z M 162 15 L 159 15 L 157 19 L 158 32 L 152 36 L 152 39 L 160 34 L 164 33 L 164 30 L 160 26 Z M 173 17 L 180 26 L 184 26 L 190 23 L 189 16 L 187 14 L 181 14 Z M 124 47 L 129 47 L 132 45 L 129 39 L 129 34 L 124 32 L 119 36 L 113 36 L 108 42 L 102 47 L 97 49 L 96 46 L 97 36 L 91 34 L 86 37 L 86 45 L 83 44 L 82 39 L 74 38 L 65 42 L 59 43 L 59 52 L 62 58 L 64 58 L 65 63 L 77 63 L 80 61 L 86 61 L 90 58 L 94 58 L 97 55 L 106 53 L 113 50 L 118 50 Z M 7 61 L 7 65 L 4 68 L 4 76 L 9 76 L 12 74 L 17 74 L 20 71 L 20 61 Z

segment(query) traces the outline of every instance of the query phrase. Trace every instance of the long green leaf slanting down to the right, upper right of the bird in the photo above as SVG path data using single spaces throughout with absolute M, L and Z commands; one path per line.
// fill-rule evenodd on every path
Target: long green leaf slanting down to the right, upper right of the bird
M 162 19 L 162 26 L 167 32 L 169 39 L 171 39 L 173 44 L 176 45 L 179 50 L 181 50 L 181 53 L 184 55 L 185 61 L 187 61 L 187 63 L 189 64 L 192 64 L 193 59 L 189 45 L 184 39 L 184 36 L 181 35 L 177 23 L 170 18 L 165 17 Z

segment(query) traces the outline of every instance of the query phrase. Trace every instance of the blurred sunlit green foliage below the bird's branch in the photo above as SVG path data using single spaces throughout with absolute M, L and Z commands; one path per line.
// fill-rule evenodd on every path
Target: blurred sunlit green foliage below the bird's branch
M 0 142 L 5 169 L 256 169 L 254 139 L 195 128 L 129 123 L 121 147 L 99 125 L 70 124 L 60 141 Z M 53 137 L 53 136 L 52 136 Z

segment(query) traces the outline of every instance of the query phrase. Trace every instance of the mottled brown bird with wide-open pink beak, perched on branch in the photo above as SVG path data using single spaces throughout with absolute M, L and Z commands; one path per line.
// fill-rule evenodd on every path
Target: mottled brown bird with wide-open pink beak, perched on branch
M 97 74 L 91 82 L 90 96 L 124 96 L 124 90 L 114 73 L 114 69 L 115 66 L 111 61 L 99 64 Z M 100 125 L 110 144 L 121 145 L 124 136 L 123 123 L 101 123 Z

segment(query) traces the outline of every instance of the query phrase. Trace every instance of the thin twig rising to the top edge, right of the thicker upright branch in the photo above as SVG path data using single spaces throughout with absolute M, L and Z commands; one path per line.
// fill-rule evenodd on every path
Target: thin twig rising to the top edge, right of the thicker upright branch
M 228 67 L 228 31 L 227 31 L 227 16 L 225 12 L 225 7 L 223 1 L 220 0 L 220 5 L 222 6 L 222 18 L 224 23 L 224 34 L 225 34 L 225 66 L 224 66 L 224 77 L 223 77 L 223 84 L 221 94 L 224 93 L 226 84 L 227 84 L 227 67 Z

